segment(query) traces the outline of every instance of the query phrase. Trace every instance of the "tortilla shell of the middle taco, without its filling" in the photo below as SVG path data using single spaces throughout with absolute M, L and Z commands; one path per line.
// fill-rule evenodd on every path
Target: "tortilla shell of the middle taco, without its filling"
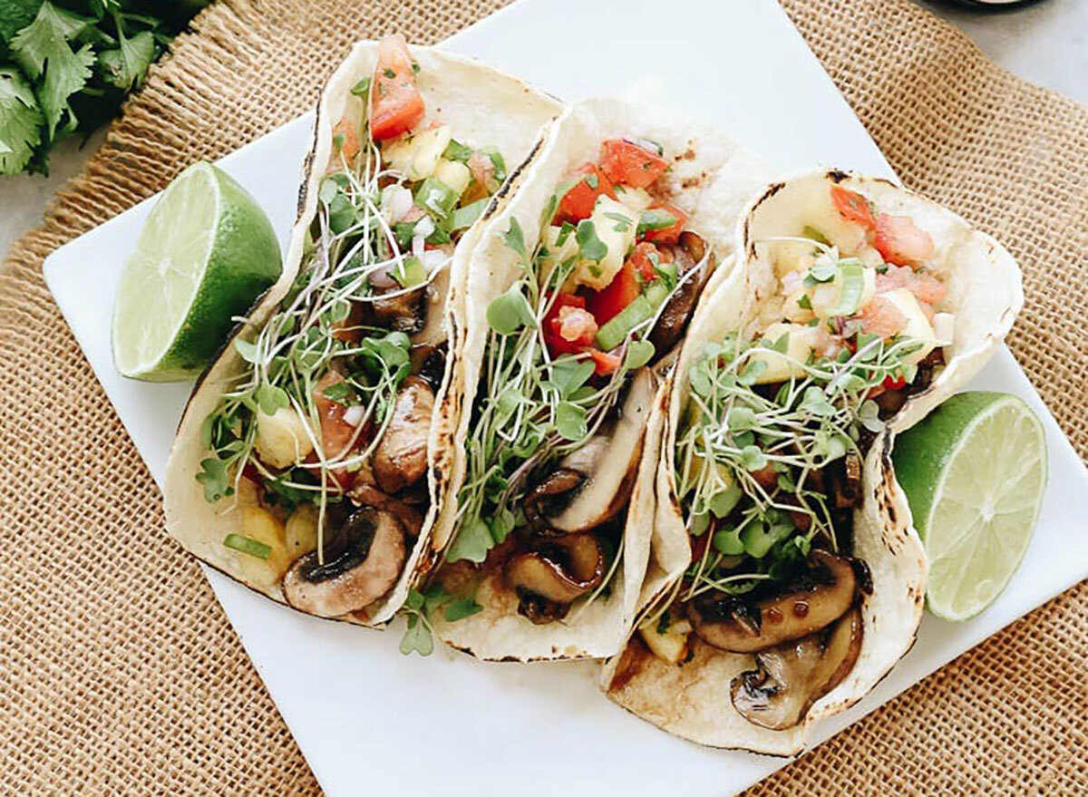
M 666 173 L 671 201 L 689 213 L 688 229 L 702 235 L 715 252 L 718 268 L 704 295 L 718 284 L 732 265 L 733 228 L 745 199 L 768 176 L 768 169 L 751 152 L 720 132 L 677 117 L 671 111 L 647 108 L 618 99 L 591 99 L 571 106 L 554 123 L 540 156 L 521 175 L 517 195 L 496 213 L 482 233 L 471 262 L 460 263 L 453 282 L 463 286 L 462 301 L 453 307 L 459 365 L 455 384 L 444 396 L 450 408 L 444 418 L 456 418 L 445 430 L 449 440 L 470 440 L 472 405 L 483 365 L 487 339 L 487 305 L 522 273 L 518 258 L 503 240 L 510 220 L 517 219 L 530 245 L 540 238 L 548 199 L 565 176 L 577 167 L 596 160 L 608 138 L 646 138 L 660 144 L 671 168 Z M 653 477 L 659 455 L 664 420 L 656 393 L 651 403 L 647 433 L 623 530 L 622 562 L 608 596 L 585 606 L 574 605 L 566 620 L 533 625 L 517 613 L 518 600 L 499 588 L 500 576 L 489 576 L 475 600 L 480 613 L 454 623 L 433 618 L 440 637 L 450 646 L 480 659 L 537 661 L 603 658 L 616 653 L 626 639 L 640 603 L 640 587 L 650 554 L 650 518 L 653 516 Z M 432 538 L 437 557 L 453 539 L 457 520 L 457 492 L 465 480 L 465 446 L 444 446 L 454 452 L 448 492 Z

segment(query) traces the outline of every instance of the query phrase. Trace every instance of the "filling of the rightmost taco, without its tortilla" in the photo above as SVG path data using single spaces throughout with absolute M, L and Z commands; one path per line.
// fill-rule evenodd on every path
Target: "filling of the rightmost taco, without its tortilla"
M 640 657 L 751 657 L 730 699 L 771 729 L 801 723 L 858 659 L 871 591 L 851 555 L 863 461 L 943 366 L 954 324 L 934 242 L 911 218 L 875 216 L 831 185 L 806 220 L 755 242 L 758 311 L 691 359 L 675 446 L 691 564 L 611 685 Z

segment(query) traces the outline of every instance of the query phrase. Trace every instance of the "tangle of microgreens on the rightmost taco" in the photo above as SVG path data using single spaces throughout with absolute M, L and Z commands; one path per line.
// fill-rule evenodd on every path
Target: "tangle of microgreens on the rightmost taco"
M 740 594 L 759 581 L 789 578 L 817 537 L 837 547 L 833 507 L 814 475 L 848 453 L 860 455 L 863 429 L 883 428 L 866 396 L 886 377 L 908 370 L 903 357 L 917 346 L 858 333 L 853 351 L 800 361 L 786 343 L 784 335 L 753 342 L 728 335 L 705 344 L 689 368 L 677 487 L 689 534 L 712 529 L 713 536 L 688 571 L 687 599 L 706 590 Z M 766 367 L 755 355 L 770 352 L 800 375 L 772 395 L 753 389 L 763 372 L 754 366 Z

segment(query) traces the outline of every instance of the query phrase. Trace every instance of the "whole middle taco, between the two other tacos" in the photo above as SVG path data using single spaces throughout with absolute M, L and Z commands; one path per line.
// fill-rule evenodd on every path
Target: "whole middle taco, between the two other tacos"
M 648 554 L 658 373 L 763 175 L 664 111 L 591 100 L 557 120 L 454 309 L 459 442 L 429 594 L 448 601 L 431 617 L 447 643 L 517 661 L 619 649 Z

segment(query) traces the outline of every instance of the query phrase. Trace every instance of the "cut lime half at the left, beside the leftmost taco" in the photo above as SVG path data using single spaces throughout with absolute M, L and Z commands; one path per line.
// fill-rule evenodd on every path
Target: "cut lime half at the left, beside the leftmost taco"
M 226 173 L 194 163 L 151 209 L 125 263 L 113 309 L 113 360 L 133 379 L 199 373 L 234 316 L 282 268 L 272 224 Z

